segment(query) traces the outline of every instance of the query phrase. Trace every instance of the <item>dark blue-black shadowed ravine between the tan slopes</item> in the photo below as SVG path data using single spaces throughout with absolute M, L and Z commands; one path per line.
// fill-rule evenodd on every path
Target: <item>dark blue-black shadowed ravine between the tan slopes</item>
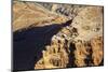
M 50 45 L 52 37 L 71 23 L 72 19 L 60 25 L 31 27 L 13 32 L 13 70 L 33 70 L 35 62 L 42 57 L 42 51 L 45 45 Z

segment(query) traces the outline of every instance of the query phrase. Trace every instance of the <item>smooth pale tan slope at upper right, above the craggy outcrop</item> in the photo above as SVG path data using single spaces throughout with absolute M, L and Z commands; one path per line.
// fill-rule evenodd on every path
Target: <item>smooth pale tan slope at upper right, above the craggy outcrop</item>
M 103 37 L 103 8 L 84 8 L 75 17 L 72 26 L 79 33 L 76 40 L 89 41 L 96 35 Z

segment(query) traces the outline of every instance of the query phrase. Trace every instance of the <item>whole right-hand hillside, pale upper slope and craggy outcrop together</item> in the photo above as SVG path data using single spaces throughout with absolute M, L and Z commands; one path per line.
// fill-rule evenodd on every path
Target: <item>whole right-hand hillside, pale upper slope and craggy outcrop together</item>
M 75 16 L 71 25 L 55 34 L 57 38 L 64 39 L 65 41 L 63 42 L 63 40 L 59 39 L 55 39 L 56 41 L 52 40 L 53 43 L 55 42 L 55 45 L 51 44 L 46 46 L 44 53 L 48 55 L 44 56 L 43 53 L 43 58 L 41 59 L 43 63 L 40 64 L 40 61 L 38 61 L 35 69 L 39 69 L 41 66 L 44 66 L 42 69 L 51 69 L 55 67 L 99 66 L 103 63 L 103 9 L 97 6 L 79 9 L 81 11 Z M 53 55 L 56 56 L 54 57 Z M 63 57 L 60 55 L 63 55 Z M 57 60 L 57 66 L 49 61 L 52 66 L 46 64 L 45 67 L 44 63 L 46 60 L 44 57 L 46 57 L 46 60 L 51 59 L 51 57 L 55 59 L 58 57 L 60 60 Z M 62 61 L 62 59 L 64 61 Z M 63 66 L 59 66 L 62 63 Z

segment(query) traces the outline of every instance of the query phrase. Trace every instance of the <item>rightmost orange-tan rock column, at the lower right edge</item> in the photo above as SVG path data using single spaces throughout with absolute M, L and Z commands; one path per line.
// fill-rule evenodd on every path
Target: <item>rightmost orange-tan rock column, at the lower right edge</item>
M 104 46 L 103 46 L 103 38 L 94 38 L 91 40 L 92 45 L 92 59 L 94 66 L 99 66 L 104 58 Z

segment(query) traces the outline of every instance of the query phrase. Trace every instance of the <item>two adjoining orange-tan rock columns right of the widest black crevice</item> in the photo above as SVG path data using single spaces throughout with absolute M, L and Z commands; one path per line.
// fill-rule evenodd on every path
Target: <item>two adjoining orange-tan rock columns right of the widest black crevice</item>
M 77 67 L 99 66 L 104 57 L 103 48 L 104 48 L 103 37 L 93 38 L 89 42 L 81 42 L 81 41 L 77 42 L 76 51 L 75 51 L 75 57 L 76 57 L 75 62 Z M 89 52 L 89 49 L 92 49 L 92 51 Z M 85 63 L 84 60 L 89 58 L 87 57 L 89 55 L 91 55 L 92 59 L 89 61 L 90 63 Z

